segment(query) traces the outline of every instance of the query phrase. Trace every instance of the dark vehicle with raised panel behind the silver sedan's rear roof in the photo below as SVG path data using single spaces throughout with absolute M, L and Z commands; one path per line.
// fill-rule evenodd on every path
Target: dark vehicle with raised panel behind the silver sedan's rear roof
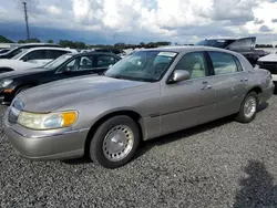
M 243 39 L 211 39 L 204 40 L 196 45 L 214 46 L 226 49 L 243 54 L 253 65 L 255 65 L 259 58 L 265 56 L 268 52 L 264 50 L 256 50 L 256 37 Z

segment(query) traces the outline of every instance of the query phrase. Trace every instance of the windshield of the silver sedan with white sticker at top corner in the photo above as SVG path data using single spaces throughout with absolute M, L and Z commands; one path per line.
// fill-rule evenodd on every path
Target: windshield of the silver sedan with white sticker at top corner
M 116 79 L 156 82 L 176 58 L 175 52 L 137 51 L 117 62 L 105 75 Z

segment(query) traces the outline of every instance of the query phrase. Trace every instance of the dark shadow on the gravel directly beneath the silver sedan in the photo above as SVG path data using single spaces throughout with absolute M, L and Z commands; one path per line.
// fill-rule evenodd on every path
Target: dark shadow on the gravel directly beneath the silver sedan
M 263 111 L 265 111 L 267 107 L 269 106 L 268 103 L 261 103 L 258 106 L 257 112 L 260 113 Z M 214 122 L 209 122 L 199 126 L 195 126 L 192 128 L 187 128 L 177 133 L 173 133 L 173 134 L 168 134 L 165 136 L 161 136 L 151 141 L 146 141 L 141 143 L 140 148 L 137 149 L 135 156 L 133 159 L 136 159 L 141 156 L 143 156 L 145 153 L 147 153 L 151 148 L 155 147 L 155 146 L 160 146 L 160 145 L 165 145 L 165 144 L 170 144 L 172 142 L 182 139 L 182 138 L 186 138 L 193 135 L 197 135 L 197 134 L 202 134 L 206 131 L 211 131 L 213 128 L 223 126 L 227 123 L 234 122 L 234 115 L 228 116 L 228 117 L 224 117 L 220 119 L 216 119 Z M 79 158 L 79 159 L 70 159 L 70 160 L 63 160 L 64 164 L 68 165 L 80 165 L 80 164 L 88 164 L 88 163 L 92 163 L 89 158 L 88 155 L 84 156 L 83 158 Z

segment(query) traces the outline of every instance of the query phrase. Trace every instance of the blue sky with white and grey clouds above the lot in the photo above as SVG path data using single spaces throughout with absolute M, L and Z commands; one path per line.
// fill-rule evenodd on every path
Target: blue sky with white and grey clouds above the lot
M 86 43 L 256 35 L 277 44 L 277 0 L 25 0 L 30 33 Z M 25 39 L 22 0 L 1 0 L 0 34 Z

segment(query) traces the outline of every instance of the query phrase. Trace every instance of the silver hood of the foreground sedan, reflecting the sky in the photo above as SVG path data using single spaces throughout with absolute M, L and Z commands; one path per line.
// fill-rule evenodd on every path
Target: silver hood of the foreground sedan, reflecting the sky
M 115 92 L 150 83 L 106 76 L 82 76 L 43 84 L 18 95 L 28 112 L 53 112 L 66 105 L 105 98 Z M 114 94 L 112 94 L 114 93 Z

